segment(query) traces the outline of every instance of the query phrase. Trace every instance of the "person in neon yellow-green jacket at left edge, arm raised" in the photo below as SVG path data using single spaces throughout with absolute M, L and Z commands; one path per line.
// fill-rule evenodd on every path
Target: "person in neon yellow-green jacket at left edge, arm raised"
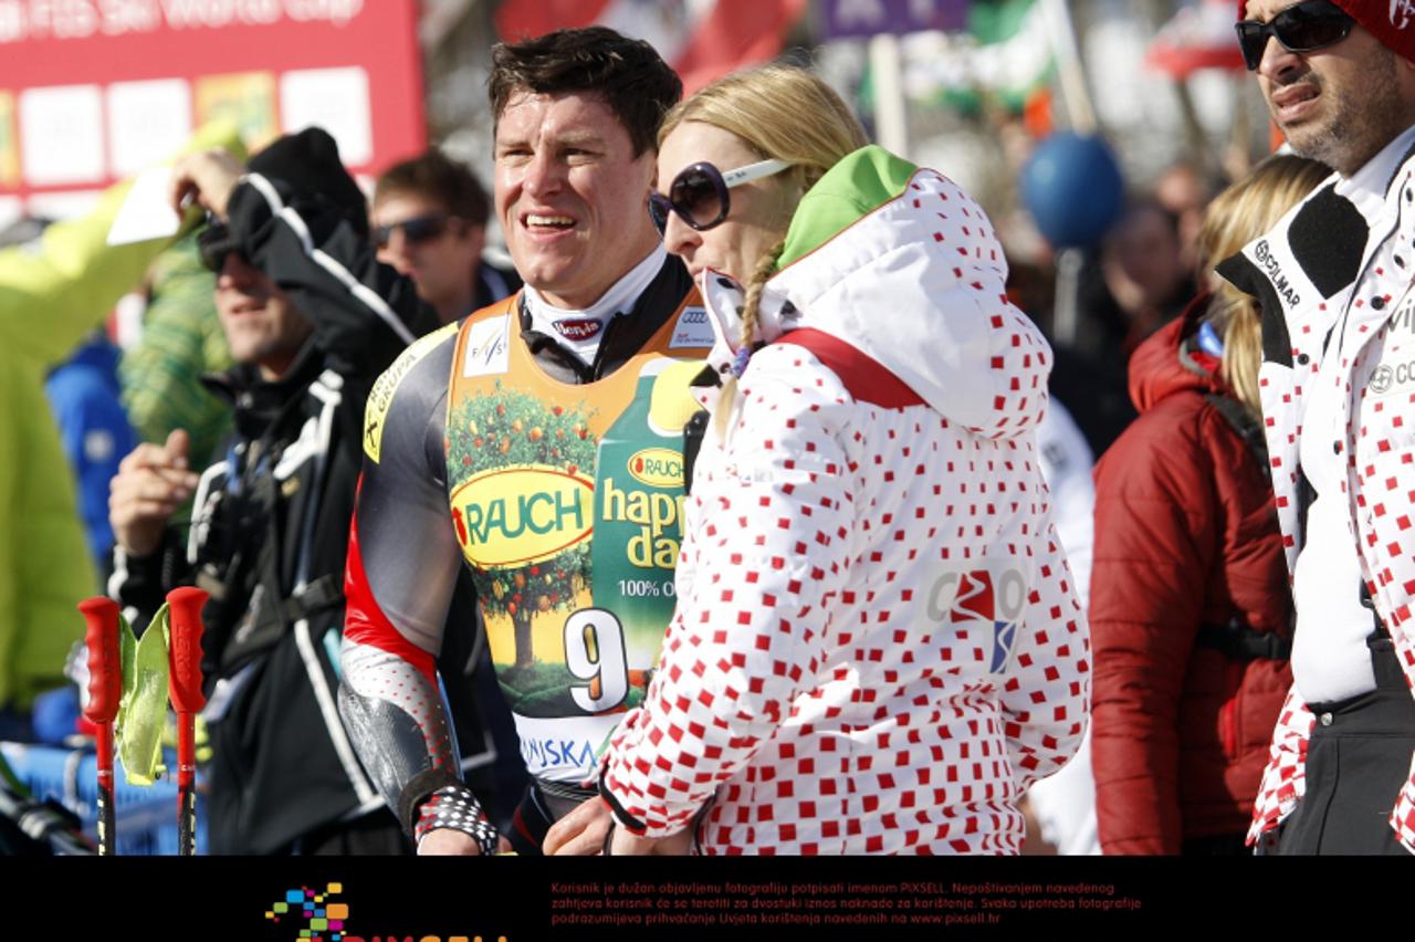
M 226 124 L 201 129 L 188 149 L 212 146 L 245 154 Z M 82 635 L 74 607 L 98 588 L 44 378 L 171 243 L 108 245 L 130 185 L 37 245 L 0 252 L 0 735 L 14 734 L 34 694 L 64 683 Z

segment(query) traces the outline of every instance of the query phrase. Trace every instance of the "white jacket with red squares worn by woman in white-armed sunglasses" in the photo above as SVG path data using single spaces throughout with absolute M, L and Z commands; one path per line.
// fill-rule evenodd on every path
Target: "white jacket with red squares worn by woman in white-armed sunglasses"
M 698 458 L 659 669 L 603 760 L 621 826 L 1020 850 L 1016 802 L 1077 750 L 1090 685 L 1037 467 L 1050 349 L 1005 277 L 978 205 L 877 147 L 802 201 Z M 724 369 L 741 294 L 703 287 Z

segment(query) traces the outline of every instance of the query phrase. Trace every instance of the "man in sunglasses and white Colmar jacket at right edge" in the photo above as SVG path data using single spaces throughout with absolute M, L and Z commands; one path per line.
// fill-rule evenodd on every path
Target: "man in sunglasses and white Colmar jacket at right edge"
M 1249 842 L 1415 853 L 1415 3 L 1240 0 L 1238 17 L 1278 127 L 1336 171 L 1218 267 L 1262 304 L 1296 601 Z

